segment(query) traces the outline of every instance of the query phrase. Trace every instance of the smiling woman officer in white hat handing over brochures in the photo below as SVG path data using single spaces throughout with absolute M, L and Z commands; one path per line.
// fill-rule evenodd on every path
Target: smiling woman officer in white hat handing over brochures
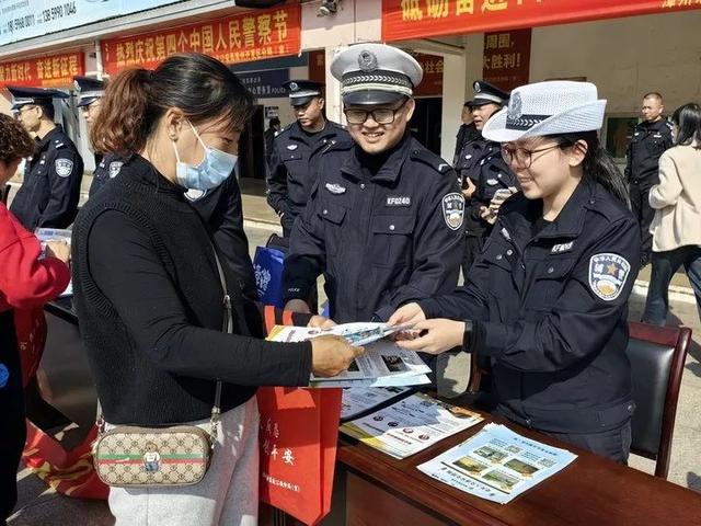
M 403 346 L 489 361 L 496 412 L 625 462 L 631 442 L 628 297 L 640 232 L 600 147 L 606 101 L 586 82 L 517 88 L 484 127 L 522 193 L 502 206 L 464 287 L 400 308 Z

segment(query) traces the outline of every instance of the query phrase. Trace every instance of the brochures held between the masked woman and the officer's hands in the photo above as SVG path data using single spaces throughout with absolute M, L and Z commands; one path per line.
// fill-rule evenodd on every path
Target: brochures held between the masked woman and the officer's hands
M 430 373 L 414 352 L 400 347 L 386 336 L 401 328 L 384 323 L 346 323 L 331 329 L 308 327 L 275 327 L 268 340 L 301 342 L 332 334 L 344 336 L 352 345 L 365 346 L 365 354 L 356 358 L 348 370 L 333 378 L 311 376 L 310 387 L 397 387 L 429 384 Z

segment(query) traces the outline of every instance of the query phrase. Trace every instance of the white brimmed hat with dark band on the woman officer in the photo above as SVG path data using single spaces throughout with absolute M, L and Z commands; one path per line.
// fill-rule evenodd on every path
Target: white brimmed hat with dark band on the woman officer
M 482 136 L 496 142 L 600 129 L 606 100 L 591 82 L 553 80 L 512 91 L 508 106 L 487 121 Z

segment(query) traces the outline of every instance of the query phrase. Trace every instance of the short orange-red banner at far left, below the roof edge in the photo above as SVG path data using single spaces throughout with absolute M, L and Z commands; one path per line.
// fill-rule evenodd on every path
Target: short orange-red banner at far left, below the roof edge
M 82 52 L 0 64 L 0 84 L 65 88 L 76 75 L 85 75 Z

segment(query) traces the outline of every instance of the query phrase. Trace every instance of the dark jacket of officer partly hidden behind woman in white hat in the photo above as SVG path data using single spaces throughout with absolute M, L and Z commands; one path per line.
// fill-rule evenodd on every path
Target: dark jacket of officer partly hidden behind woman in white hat
M 519 187 L 516 175 L 502 157 L 498 142 L 484 139 L 481 135 L 467 142 L 456 164 L 463 188 L 470 179 L 475 191 L 466 209 L 466 232 L 468 236 L 483 236 L 490 224 L 480 217 L 480 207 L 490 206 L 490 202 L 499 188 Z

